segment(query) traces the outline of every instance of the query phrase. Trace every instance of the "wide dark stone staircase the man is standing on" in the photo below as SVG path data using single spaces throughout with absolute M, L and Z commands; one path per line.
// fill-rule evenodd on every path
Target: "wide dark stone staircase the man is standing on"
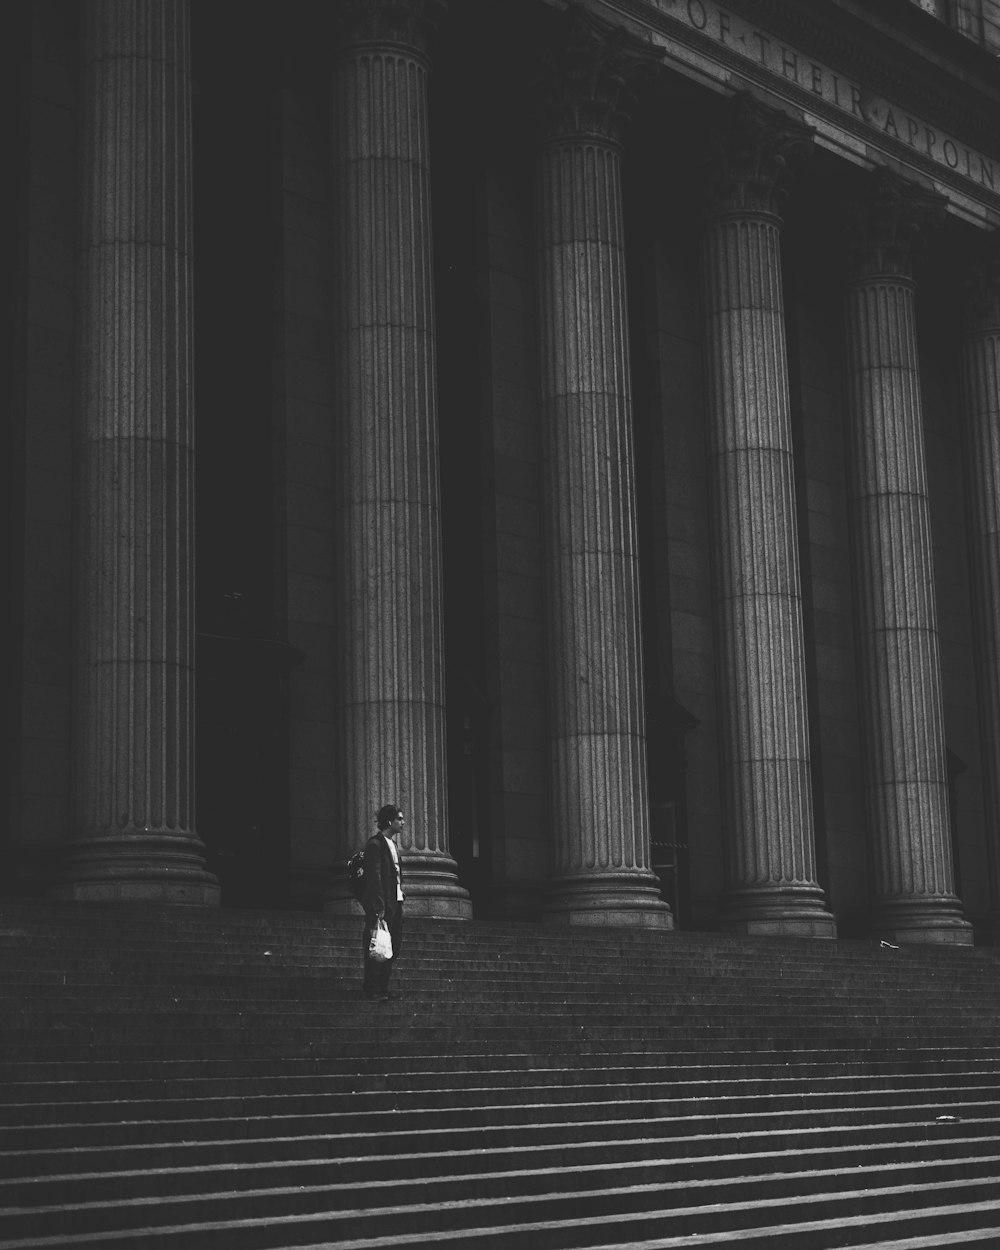
M 1000 951 L 0 901 L 0 1248 L 1000 1246 Z

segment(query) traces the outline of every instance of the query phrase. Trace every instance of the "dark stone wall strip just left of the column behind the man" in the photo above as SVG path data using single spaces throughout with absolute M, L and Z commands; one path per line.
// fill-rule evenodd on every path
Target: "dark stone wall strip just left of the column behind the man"
M 305 902 L 321 895 L 330 868 L 336 785 L 329 155 L 308 95 L 286 89 L 274 110 L 279 576 L 286 638 L 305 656 L 289 675 L 290 890 Z M 359 846 L 366 832 L 356 830 Z

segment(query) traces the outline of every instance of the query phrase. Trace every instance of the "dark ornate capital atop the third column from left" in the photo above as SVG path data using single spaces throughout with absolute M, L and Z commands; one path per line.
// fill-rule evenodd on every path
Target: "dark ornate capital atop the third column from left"
M 542 142 L 561 139 L 621 141 L 635 78 L 662 52 L 579 5 L 560 14 L 559 34 L 542 52 L 539 84 Z

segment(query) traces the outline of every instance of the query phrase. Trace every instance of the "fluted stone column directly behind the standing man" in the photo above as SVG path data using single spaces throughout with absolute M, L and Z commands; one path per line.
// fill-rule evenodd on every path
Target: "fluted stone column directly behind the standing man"
M 449 856 L 428 135 L 438 0 L 348 0 L 332 76 L 342 794 L 338 862 L 398 802 L 410 914 L 469 916 Z M 342 878 L 328 906 L 350 904 Z

